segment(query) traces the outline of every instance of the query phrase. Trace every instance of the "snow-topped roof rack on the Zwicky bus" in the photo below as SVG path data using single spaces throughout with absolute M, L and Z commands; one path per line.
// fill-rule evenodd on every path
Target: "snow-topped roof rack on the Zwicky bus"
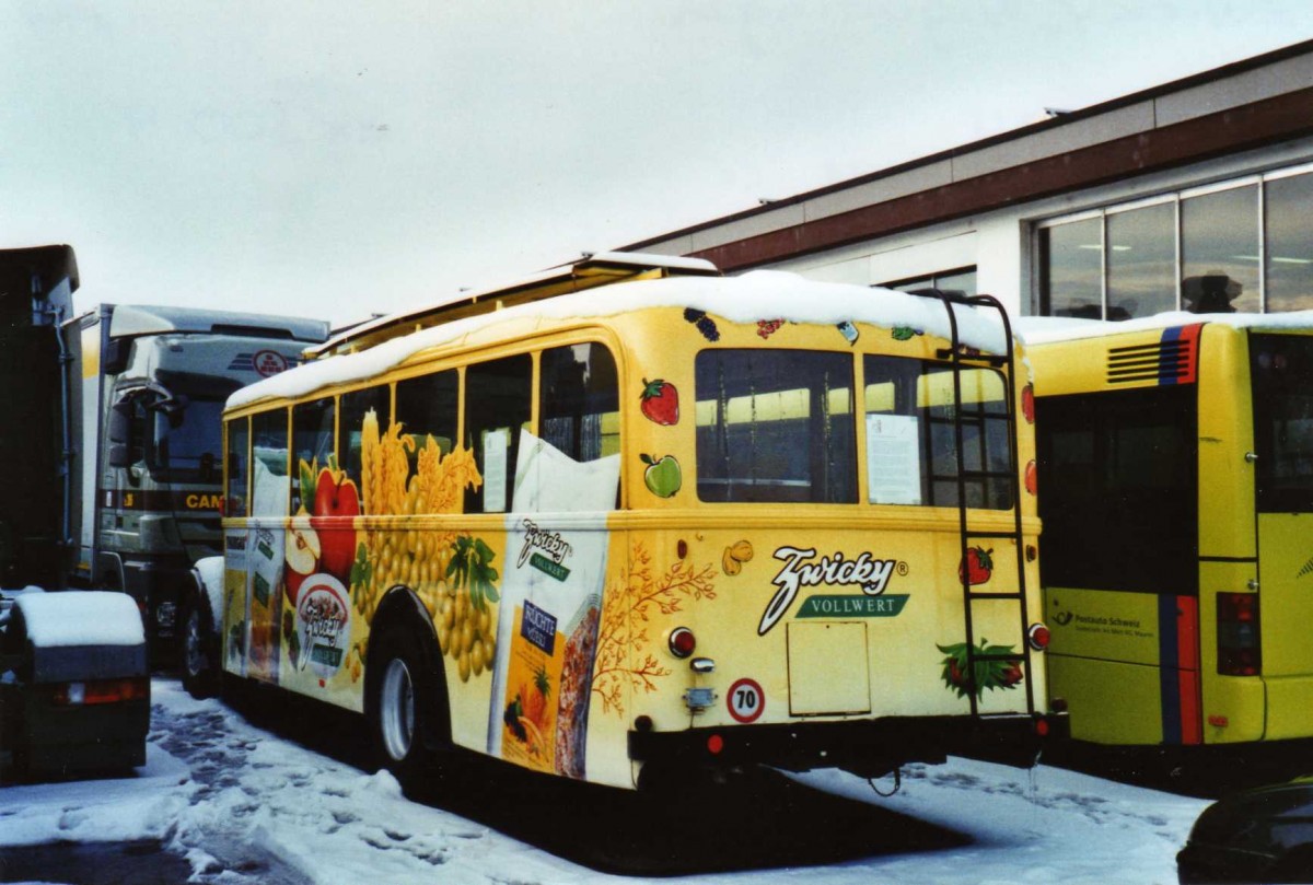
M 310 360 L 364 351 L 421 328 L 488 314 L 515 305 L 566 295 L 596 286 L 675 276 L 714 277 L 720 269 L 702 259 L 643 252 L 583 252 L 576 261 L 546 268 L 523 280 L 462 290 L 444 301 L 389 314 L 341 330 L 326 343 L 306 349 Z

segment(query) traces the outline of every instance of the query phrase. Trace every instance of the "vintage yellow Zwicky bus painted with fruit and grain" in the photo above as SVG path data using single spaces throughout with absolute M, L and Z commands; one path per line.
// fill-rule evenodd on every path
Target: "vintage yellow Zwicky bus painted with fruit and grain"
M 352 330 L 228 400 L 217 663 L 364 713 L 403 783 L 1033 759 L 1001 316 L 593 255 Z

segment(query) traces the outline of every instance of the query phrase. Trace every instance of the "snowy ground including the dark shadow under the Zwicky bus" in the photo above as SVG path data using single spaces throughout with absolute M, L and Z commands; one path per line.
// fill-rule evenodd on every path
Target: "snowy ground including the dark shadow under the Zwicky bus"
M 1207 805 L 1058 768 L 956 759 L 906 769 L 892 797 L 826 771 L 798 779 L 821 792 L 771 779 L 727 800 L 693 796 L 680 809 L 470 760 L 440 798 L 412 802 L 389 775 L 351 764 L 340 747 L 353 741 L 328 735 L 334 755 L 323 755 L 252 725 L 246 705 L 244 716 L 194 701 L 171 680 L 155 681 L 154 702 L 148 764 L 137 777 L 0 789 L 0 857 L 5 847 L 41 843 L 159 840 L 186 859 L 192 881 L 222 885 L 570 885 L 654 873 L 696 882 L 1144 885 L 1176 881 L 1175 852 Z M 307 733 L 353 727 L 327 722 Z M 599 872 L 629 860 L 638 876 Z M 75 881 L 58 876 L 51 871 L 53 881 Z M 0 881 L 9 881 L 3 868 Z

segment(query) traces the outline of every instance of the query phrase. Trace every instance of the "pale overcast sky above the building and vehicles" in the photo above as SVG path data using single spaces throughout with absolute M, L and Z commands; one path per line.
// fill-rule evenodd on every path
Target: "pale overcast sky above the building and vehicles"
M 1308 0 L 0 0 L 0 247 L 341 324 L 1313 37 Z

